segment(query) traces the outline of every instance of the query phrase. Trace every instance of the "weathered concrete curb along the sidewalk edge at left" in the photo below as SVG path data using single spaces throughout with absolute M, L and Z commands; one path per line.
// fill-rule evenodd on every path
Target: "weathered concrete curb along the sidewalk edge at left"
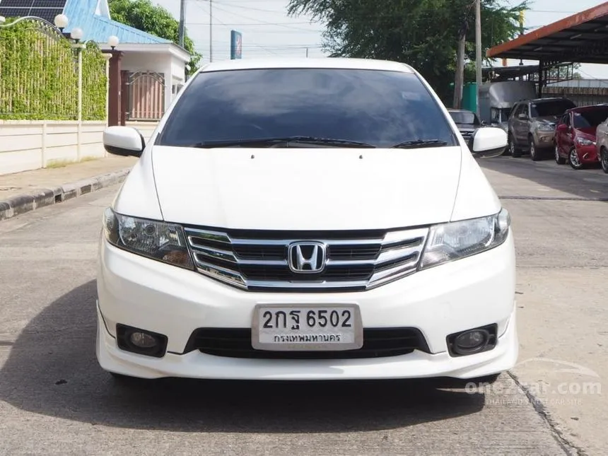
M 5 199 L 0 201 L 0 221 L 118 184 L 127 177 L 130 170 L 131 168 L 124 168 L 113 173 L 64 184 L 60 187 L 35 189 L 32 192 Z

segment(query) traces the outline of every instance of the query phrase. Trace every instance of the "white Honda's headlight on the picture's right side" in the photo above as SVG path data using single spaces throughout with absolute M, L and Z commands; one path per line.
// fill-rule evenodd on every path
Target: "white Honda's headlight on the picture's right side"
M 506 209 L 498 214 L 431 227 L 420 269 L 470 257 L 505 242 L 511 218 Z

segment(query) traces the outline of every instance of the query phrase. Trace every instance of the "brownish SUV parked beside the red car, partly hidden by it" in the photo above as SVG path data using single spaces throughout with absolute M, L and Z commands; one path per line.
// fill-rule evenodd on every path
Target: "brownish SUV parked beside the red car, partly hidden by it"
M 576 105 L 568 98 L 535 98 L 513 105 L 508 122 L 509 150 L 513 157 L 530 152 L 537 161 L 554 152 L 555 124 Z

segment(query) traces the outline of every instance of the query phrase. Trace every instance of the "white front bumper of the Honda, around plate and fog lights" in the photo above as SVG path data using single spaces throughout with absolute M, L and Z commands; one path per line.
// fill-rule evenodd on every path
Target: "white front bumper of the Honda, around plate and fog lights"
M 347 380 L 475 378 L 512 368 L 518 357 L 513 234 L 495 249 L 358 293 L 252 293 L 194 271 L 100 242 L 96 353 L 105 370 L 141 378 Z M 429 353 L 358 359 L 254 359 L 213 356 L 187 341 L 200 327 L 250 328 L 257 303 L 357 303 L 364 327 L 414 327 Z M 490 351 L 452 357 L 448 334 L 498 325 Z M 162 358 L 119 349 L 116 325 L 168 337 Z M 183 353 L 183 354 L 182 354 Z

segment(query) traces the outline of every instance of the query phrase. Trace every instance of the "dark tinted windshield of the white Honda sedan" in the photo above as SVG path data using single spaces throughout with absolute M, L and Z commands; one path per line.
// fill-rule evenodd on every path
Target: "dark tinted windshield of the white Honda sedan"
M 250 140 L 292 136 L 376 147 L 404 141 L 458 145 L 440 105 L 415 74 L 299 68 L 197 74 L 156 144 L 241 141 L 247 147 L 269 147 L 270 141 Z

